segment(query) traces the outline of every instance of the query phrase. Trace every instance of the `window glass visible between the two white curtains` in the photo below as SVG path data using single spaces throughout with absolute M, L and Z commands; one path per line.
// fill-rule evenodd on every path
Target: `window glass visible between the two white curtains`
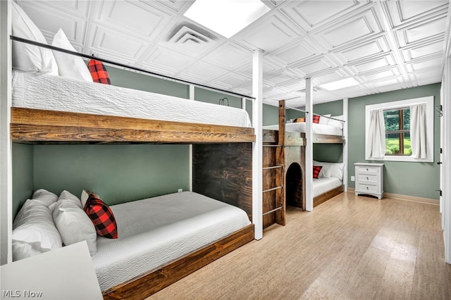
M 410 145 L 410 108 L 383 111 L 385 123 L 385 155 L 412 155 Z

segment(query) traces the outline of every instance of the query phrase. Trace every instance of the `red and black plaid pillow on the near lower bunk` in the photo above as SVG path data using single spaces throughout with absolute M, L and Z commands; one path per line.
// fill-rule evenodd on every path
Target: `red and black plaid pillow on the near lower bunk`
M 104 204 L 97 194 L 90 193 L 86 201 L 85 213 L 96 227 L 97 235 L 108 239 L 118 238 L 118 225 L 111 208 Z

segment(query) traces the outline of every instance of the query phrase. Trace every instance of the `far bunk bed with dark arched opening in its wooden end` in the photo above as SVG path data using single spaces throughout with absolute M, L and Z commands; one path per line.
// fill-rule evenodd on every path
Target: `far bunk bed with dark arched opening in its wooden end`
M 285 201 L 306 209 L 306 176 L 305 176 L 305 147 L 309 144 L 306 139 L 306 123 L 287 123 L 285 118 L 285 101 L 279 101 L 279 124 L 264 127 L 264 141 L 278 141 L 283 145 L 283 167 L 285 177 Z M 317 120 L 321 116 L 317 115 Z M 345 144 L 342 132 L 342 116 L 335 118 L 323 116 L 333 120 L 332 125 L 313 123 L 311 144 Z M 280 135 L 282 132 L 282 135 Z M 267 155 L 267 154 L 266 154 Z M 265 155 L 264 155 L 265 159 Z M 313 206 L 318 206 L 345 190 L 343 185 L 344 163 L 327 163 L 314 161 L 323 169 L 318 178 L 312 179 Z M 277 222 L 276 222 L 277 223 Z M 279 223 L 280 224 L 280 223 Z

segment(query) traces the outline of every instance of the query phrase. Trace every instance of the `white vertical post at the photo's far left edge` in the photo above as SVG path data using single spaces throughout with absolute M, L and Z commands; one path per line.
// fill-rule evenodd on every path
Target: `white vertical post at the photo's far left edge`
M 11 154 L 11 2 L 0 1 L 0 265 L 13 261 L 13 171 Z

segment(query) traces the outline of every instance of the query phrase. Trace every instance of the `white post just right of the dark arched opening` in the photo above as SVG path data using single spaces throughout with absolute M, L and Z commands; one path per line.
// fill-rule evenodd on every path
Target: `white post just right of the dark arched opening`
M 311 78 L 305 80 L 305 210 L 313 211 L 313 88 Z

